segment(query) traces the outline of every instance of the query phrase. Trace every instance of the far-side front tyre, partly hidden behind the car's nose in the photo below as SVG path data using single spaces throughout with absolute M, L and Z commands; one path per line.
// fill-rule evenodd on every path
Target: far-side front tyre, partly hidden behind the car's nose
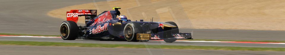
M 175 22 L 172 22 L 172 21 L 168 21 L 168 22 L 165 22 L 165 23 L 168 23 L 168 24 L 171 24 L 171 25 L 174 25 L 174 26 L 177 26 L 177 24 Z M 176 33 L 179 33 L 179 29 L 178 29 L 178 26 L 177 27 L 174 27 L 174 28 L 164 28 L 166 31 L 164 31 L 164 36 L 166 37 L 166 39 L 163 39 L 165 42 L 167 43 L 171 43 L 171 42 L 174 42 L 176 41 L 177 39 L 167 39 L 167 38 L 171 38 L 172 35 L 171 34 L 176 34 Z

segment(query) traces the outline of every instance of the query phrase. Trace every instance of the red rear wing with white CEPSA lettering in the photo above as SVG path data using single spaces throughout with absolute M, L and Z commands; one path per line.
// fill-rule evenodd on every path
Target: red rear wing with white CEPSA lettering
M 78 16 L 85 16 L 86 24 L 88 21 L 91 20 L 89 18 L 94 18 L 97 16 L 97 10 L 70 10 L 66 12 L 67 21 L 74 21 L 75 23 L 77 23 Z

